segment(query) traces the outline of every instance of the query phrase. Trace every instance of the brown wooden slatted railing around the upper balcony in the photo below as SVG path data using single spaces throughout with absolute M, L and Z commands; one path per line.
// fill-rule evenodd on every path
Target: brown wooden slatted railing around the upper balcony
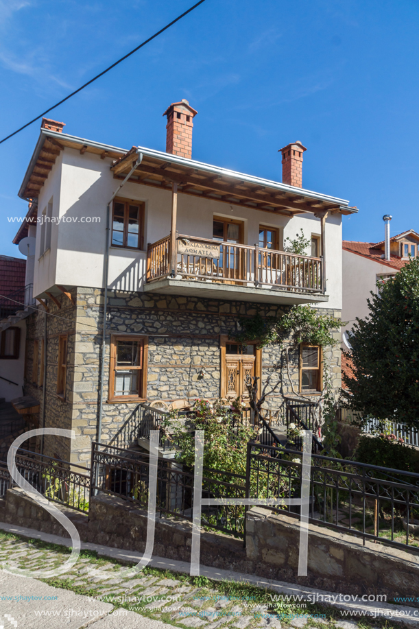
M 219 257 L 178 252 L 178 243 L 219 246 Z M 217 242 L 193 236 L 176 239 L 176 269 L 170 268 L 170 237 L 149 244 L 147 283 L 174 273 L 176 278 L 224 284 L 265 285 L 293 292 L 323 292 L 322 259 L 258 246 Z

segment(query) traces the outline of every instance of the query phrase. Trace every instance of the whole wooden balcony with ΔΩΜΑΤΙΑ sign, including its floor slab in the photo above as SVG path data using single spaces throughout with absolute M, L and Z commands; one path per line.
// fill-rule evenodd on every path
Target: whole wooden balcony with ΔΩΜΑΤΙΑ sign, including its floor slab
M 176 268 L 171 268 L 171 266 Z M 324 302 L 322 259 L 179 235 L 149 244 L 146 292 L 276 303 Z

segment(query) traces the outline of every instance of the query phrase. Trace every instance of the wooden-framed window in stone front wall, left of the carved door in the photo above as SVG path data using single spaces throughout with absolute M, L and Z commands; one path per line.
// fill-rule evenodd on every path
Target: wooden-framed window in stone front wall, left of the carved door
M 147 395 L 147 337 L 113 335 L 108 401 L 139 401 Z

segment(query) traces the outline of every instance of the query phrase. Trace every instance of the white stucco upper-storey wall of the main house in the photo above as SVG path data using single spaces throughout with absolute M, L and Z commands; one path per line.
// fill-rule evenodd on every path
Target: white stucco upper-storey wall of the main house
M 34 294 L 53 284 L 102 287 L 106 237 L 106 206 L 119 185 L 110 171 L 110 158 L 66 147 L 57 159 L 39 197 L 39 211 L 53 198 L 53 215 L 60 219 L 51 229 L 51 252 L 38 262 Z M 128 182 L 119 196 L 145 202 L 145 249 L 169 235 L 171 192 Z M 259 225 L 280 228 L 283 239 L 294 238 L 302 228 L 306 237 L 320 235 L 320 219 L 311 214 L 287 217 L 252 208 L 230 205 L 192 195 L 178 195 L 178 232 L 212 238 L 213 216 L 232 217 L 244 223 L 244 242 L 259 241 Z M 39 228 L 37 230 L 40 231 Z M 37 241 L 39 239 L 37 238 Z M 37 247 L 39 244 L 37 243 Z M 54 248 L 54 251 L 53 251 Z M 307 251 L 307 254 L 310 252 Z M 52 266 L 53 268 L 52 268 Z M 146 270 L 146 252 L 110 247 L 109 285 L 139 290 Z M 326 221 L 326 293 L 324 307 L 342 307 L 342 217 Z

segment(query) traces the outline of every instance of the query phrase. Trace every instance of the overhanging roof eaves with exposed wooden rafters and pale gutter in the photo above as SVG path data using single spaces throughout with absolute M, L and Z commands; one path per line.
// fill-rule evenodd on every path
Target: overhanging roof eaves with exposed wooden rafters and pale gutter
M 81 154 L 94 153 L 101 158 L 110 157 L 115 162 L 110 167 L 114 177 L 123 179 L 136 161 L 137 153 L 143 154 L 141 165 L 136 168 L 130 181 L 160 189 L 171 189 L 178 184 L 178 191 L 223 202 L 248 206 L 292 216 L 311 212 L 322 215 L 331 213 L 352 214 L 357 208 L 348 201 L 310 190 L 289 186 L 169 153 L 132 147 L 129 151 L 97 143 L 69 134 L 42 129 L 25 178 L 19 190 L 24 199 L 38 197 L 49 171 L 64 147 L 79 150 Z

